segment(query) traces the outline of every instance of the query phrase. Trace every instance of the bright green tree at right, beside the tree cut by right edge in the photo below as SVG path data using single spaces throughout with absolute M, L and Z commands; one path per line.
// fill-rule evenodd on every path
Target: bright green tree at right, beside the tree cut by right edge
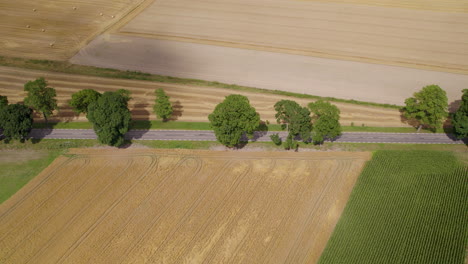
M 413 97 L 405 100 L 405 105 L 403 115 L 418 123 L 418 132 L 423 126 L 433 129 L 441 127 L 448 115 L 447 95 L 437 85 L 426 86 L 414 93 Z

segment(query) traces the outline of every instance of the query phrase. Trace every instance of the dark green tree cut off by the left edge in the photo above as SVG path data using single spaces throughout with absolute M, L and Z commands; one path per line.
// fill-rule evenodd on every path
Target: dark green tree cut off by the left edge
M 25 139 L 31 131 L 33 115 L 31 108 L 10 104 L 0 110 L 0 127 L 5 139 Z

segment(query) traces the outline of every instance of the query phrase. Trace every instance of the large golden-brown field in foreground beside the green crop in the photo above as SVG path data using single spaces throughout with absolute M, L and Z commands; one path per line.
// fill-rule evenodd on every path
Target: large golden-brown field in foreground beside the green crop
M 315 263 L 370 158 L 69 154 L 0 205 L 0 262 Z

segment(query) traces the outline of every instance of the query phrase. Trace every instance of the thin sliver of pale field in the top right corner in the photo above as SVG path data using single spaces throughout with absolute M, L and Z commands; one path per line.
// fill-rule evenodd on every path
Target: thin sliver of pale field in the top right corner
M 335 2 L 347 4 L 364 4 L 384 7 L 411 8 L 432 11 L 468 13 L 468 2 L 461 0 L 304 0 L 318 2 Z

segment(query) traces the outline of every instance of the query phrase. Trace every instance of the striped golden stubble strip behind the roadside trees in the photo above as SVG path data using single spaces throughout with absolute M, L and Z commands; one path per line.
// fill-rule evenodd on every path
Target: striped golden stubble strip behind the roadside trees
M 275 122 L 273 105 L 281 99 L 292 99 L 306 106 L 312 100 L 296 99 L 286 96 L 269 95 L 251 92 L 241 92 L 228 89 L 198 87 L 188 85 L 174 85 L 156 82 L 121 80 L 98 78 L 80 75 L 51 73 L 18 68 L 0 67 L 0 95 L 8 97 L 10 103 L 22 101 L 26 95 L 24 84 L 40 76 L 49 81 L 49 85 L 57 90 L 57 99 L 60 110 L 57 117 L 63 121 L 82 120 L 84 115 L 76 116 L 68 106 L 71 95 L 81 89 L 95 89 L 99 92 L 128 89 L 132 92 L 132 100 L 129 108 L 132 118 L 142 120 L 154 120 L 153 104 L 154 91 L 164 88 L 171 97 L 177 120 L 208 122 L 208 115 L 213 112 L 215 106 L 224 100 L 229 94 L 246 95 L 251 104 L 257 109 L 262 120 Z M 401 123 L 400 113 L 396 109 L 386 109 L 354 104 L 336 103 L 341 110 L 343 125 L 365 124 L 366 126 L 398 127 L 407 126 Z

